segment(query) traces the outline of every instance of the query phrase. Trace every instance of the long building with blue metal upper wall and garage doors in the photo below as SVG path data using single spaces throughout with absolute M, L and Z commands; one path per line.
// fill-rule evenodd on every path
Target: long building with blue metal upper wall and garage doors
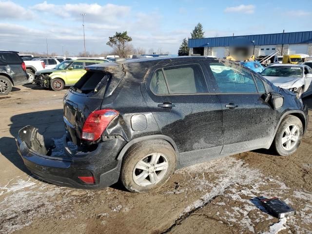
M 190 54 L 229 55 L 230 47 L 250 47 L 258 55 L 312 54 L 312 31 L 189 39 Z

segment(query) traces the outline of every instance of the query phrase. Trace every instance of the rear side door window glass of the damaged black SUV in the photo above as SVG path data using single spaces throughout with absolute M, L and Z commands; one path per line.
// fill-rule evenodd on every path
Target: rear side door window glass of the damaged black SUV
M 208 93 L 199 64 L 178 65 L 156 70 L 150 89 L 158 95 Z

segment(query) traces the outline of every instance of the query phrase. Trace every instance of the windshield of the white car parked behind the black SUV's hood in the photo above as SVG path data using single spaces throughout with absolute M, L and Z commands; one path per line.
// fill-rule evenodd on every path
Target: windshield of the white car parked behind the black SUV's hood
M 280 66 L 280 67 L 268 67 L 263 72 L 261 76 L 267 77 L 302 77 L 302 67 L 290 67 L 290 66 Z

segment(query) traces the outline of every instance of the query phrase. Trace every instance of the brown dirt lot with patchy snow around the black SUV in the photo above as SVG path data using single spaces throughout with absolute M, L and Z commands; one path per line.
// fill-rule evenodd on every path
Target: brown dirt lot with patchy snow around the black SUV
M 77 190 L 33 177 L 15 143 L 28 124 L 58 142 L 65 92 L 28 85 L 0 97 L 0 233 L 312 233 L 311 121 L 289 157 L 257 151 L 217 159 L 177 171 L 148 194 L 120 185 Z M 312 98 L 304 101 L 312 108 Z M 278 196 L 297 214 L 278 220 L 259 205 L 259 196 Z

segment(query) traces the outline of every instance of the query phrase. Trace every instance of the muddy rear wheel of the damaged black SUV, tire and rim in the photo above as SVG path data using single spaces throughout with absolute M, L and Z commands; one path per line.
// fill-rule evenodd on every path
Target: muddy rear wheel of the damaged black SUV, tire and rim
M 120 180 L 130 192 L 157 189 L 174 174 L 176 152 L 165 140 L 146 140 L 132 146 L 122 164 Z

